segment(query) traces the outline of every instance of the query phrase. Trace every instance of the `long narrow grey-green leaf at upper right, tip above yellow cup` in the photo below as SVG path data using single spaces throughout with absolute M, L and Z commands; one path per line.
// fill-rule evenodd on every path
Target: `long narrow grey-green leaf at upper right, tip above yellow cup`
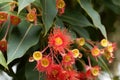
M 104 35 L 104 37 L 107 38 L 105 27 L 104 27 L 104 25 L 101 24 L 100 16 L 97 13 L 97 11 L 95 11 L 93 9 L 90 0 L 78 0 L 78 3 L 86 11 L 86 13 L 90 16 L 95 27 L 99 28 L 101 33 Z

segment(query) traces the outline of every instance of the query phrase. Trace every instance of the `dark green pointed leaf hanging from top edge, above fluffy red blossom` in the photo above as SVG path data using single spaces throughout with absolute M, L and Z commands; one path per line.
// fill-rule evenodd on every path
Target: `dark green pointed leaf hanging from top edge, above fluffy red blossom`
M 45 25 L 45 34 L 48 32 L 56 17 L 56 0 L 41 0 L 42 4 L 42 20 Z

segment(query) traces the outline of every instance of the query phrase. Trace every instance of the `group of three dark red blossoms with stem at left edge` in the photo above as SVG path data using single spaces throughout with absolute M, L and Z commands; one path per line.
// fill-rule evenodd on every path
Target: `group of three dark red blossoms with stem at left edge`
M 10 21 L 8 23 L 8 26 L 7 26 L 7 29 L 6 29 L 6 32 L 5 32 L 5 35 L 4 37 L 0 40 L 0 50 L 2 52 L 5 52 L 7 50 L 7 40 L 6 40 L 6 37 L 7 37 L 7 34 L 8 34 L 8 30 L 10 28 L 10 25 L 12 24 L 13 26 L 17 26 L 20 22 L 21 22 L 21 19 L 18 17 L 18 16 L 15 16 L 15 15 L 9 15 L 8 13 L 6 12 L 0 12 L 0 26 L 5 23 L 7 20 L 9 20 L 8 18 L 10 17 Z M 1 27 L 0 27 L 1 28 Z

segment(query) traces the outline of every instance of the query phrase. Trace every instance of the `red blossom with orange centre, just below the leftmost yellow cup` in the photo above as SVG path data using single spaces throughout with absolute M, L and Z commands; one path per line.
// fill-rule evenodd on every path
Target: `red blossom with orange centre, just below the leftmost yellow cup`
M 41 60 L 37 61 L 36 68 L 40 72 L 47 71 L 51 66 L 51 62 L 52 62 L 51 58 L 43 57 Z

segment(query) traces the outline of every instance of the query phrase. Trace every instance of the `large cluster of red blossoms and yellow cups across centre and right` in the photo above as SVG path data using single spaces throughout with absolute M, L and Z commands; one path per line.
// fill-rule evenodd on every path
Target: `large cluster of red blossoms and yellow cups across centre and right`
M 73 44 L 77 44 L 77 48 L 72 49 Z M 85 44 L 92 48 L 86 49 Z M 54 28 L 48 36 L 48 46 L 42 51 L 35 51 L 30 61 L 32 59 L 37 62 L 36 69 L 45 73 L 45 80 L 95 80 L 101 67 L 92 65 L 89 55 L 92 55 L 96 62 L 99 56 L 105 56 L 111 62 L 115 48 L 115 44 L 107 39 L 101 40 L 100 43 L 82 37 L 73 40 L 66 29 Z M 86 53 L 88 63 L 82 61 L 81 50 Z M 76 61 L 83 64 L 85 71 L 75 68 Z

